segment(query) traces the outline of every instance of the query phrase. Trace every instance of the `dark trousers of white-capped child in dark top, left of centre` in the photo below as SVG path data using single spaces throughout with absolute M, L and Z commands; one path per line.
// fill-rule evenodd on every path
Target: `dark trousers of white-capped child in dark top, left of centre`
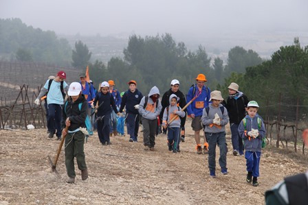
M 102 143 L 102 144 L 110 142 L 109 120 L 110 120 L 110 114 L 105 114 L 104 117 L 99 117 L 99 116 L 97 117 L 98 138 L 100 138 L 100 143 Z

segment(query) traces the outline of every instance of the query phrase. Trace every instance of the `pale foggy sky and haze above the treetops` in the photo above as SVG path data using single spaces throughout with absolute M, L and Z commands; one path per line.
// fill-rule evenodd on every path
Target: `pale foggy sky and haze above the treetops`
M 52 30 L 73 46 L 80 38 L 93 58 L 101 56 L 104 62 L 113 54 L 122 56 L 132 34 L 168 33 L 192 51 L 202 45 L 209 56 L 223 60 L 237 45 L 262 58 L 292 45 L 294 37 L 308 45 L 305 0 L 0 0 L 0 5 L 1 19 L 19 18 L 26 25 Z

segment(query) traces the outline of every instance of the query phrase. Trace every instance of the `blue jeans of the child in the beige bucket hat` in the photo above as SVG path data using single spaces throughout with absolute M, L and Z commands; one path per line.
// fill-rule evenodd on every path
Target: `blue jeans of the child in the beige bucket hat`
M 208 138 L 208 168 L 210 171 L 216 169 L 216 145 L 219 147 L 219 165 L 221 169 L 227 170 L 227 145 L 225 144 L 225 132 L 206 132 Z

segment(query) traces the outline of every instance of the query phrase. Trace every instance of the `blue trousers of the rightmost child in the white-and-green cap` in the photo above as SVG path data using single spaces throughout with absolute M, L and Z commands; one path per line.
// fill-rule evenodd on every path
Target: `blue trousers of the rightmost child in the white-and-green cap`
M 245 152 L 247 171 L 252 171 L 252 176 L 259 177 L 261 152 Z

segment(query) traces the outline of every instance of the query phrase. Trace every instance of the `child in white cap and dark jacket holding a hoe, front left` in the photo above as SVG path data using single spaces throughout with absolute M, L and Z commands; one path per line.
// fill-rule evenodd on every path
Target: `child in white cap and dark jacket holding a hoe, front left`
M 87 117 L 87 99 L 85 95 L 81 94 L 81 84 L 79 82 L 72 82 L 67 93 L 69 99 L 65 102 L 63 107 L 63 121 L 62 128 L 69 127 L 67 133 L 63 129 L 62 134 L 65 137 L 65 167 L 67 176 L 69 177 L 67 183 L 75 182 L 75 165 L 74 158 L 76 157 L 78 169 L 81 170 L 81 179 L 87 180 L 88 171 L 85 163 L 85 134 L 80 130 L 86 128 L 85 119 Z

